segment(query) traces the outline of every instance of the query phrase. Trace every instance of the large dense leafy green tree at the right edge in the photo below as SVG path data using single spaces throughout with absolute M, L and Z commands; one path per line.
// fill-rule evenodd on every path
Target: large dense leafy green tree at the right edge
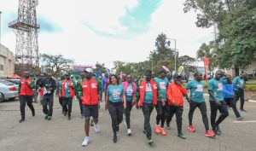
M 223 24 L 225 40 L 218 50 L 219 66 L 235 67 L 236 74 L 239 74 L 239 68 L 243 69 L 256 61 L 255 1 L 242 3 L 226 16 Z

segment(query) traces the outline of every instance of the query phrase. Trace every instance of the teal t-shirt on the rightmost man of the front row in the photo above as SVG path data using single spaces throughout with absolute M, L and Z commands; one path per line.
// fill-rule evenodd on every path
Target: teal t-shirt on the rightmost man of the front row
M 208 90 L 212 90 L 218 102 L 224 101 L 223 84 L 221 80 L 212 78 L 208 83 Z M 210 96 L 210 101 L 213 102 L 212 96 Z

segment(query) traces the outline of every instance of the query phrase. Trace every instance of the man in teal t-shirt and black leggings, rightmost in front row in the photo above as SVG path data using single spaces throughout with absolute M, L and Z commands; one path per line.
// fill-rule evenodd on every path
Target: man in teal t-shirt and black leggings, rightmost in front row
M 208 83 L 208 92 L 210 95 L 210 106 L 211 106 L 211 125 L 212 131 L 215 134 L 220 135 L 219 124 L 229 116 L 227 103 L 224 102 L 223 84 L 220 78 L 222 78 L 222 72 L 217 71 L 215 78 L 212 78 Z M 217 112 L 219 110 L 219 117 L 216 121 Z

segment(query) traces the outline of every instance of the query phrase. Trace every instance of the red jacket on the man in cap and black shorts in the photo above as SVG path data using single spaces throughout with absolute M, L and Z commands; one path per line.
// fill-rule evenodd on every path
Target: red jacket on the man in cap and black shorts
M 94 78 L 90 78 L 90 81 L 85 79 L 82 84 L 82 104 L 86 106 L 98 105 L 98 89 L 99 85 Z

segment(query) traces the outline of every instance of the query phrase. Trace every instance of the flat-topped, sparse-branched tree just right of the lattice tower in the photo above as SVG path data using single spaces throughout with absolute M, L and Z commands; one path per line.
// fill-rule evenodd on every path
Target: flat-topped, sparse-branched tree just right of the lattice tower
M 48 72 L 54 76 L 60 76 L 63 72 L 70 72 L 73 68 L 73 60 L 65 58 L 63 55 L 41 54 L 40 58 L 44 61 Z

